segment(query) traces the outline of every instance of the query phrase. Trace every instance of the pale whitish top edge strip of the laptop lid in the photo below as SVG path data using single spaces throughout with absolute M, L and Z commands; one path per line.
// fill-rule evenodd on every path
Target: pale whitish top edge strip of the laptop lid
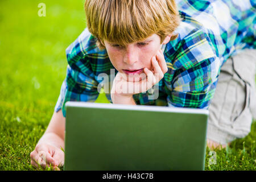
M 105 103 L 73 102 L 73 101 L 66 102 L 65 106 L 66 107 L 89 107 L 89 108 L 100 108 L 100 109 L 142 110 L 142 111 L 160 111 L 160 112 L 168 112 L 168 113 L 189 113 L 189 114 L 209 115 L 209 110 L 207 110 L 207 109 L 192 109 L 192 108 L 184 108 L 184 107 L 105 104 Z

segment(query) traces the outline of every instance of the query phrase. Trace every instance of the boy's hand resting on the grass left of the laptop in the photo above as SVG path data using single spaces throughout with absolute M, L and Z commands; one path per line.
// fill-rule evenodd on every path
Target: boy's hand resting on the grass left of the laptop
M 60 170 L 58 166 L 64 164 L 64 152 L 60 148 L 45 143 L 37 144 L 35 150 L 30 153 L 30 158 L 31 165 L 35 168 L 39 168 L 39 165 L 46 168 L 51 164 L 53 169 Z

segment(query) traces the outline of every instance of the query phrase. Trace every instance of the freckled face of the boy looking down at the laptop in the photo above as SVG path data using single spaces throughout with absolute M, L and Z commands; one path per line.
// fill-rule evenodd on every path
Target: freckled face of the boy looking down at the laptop
M 170 38 L 171 35 L 166 36 L 162 44 L 167 44 Z M 152 71 L 151 57 L 155 56 L 162 47 L 160 36 L 156 34 L 149 36 L 142 42 L 127 44 L 123 47 L 119 46 L 118 43 L 110 43 L 106 40 L 104 40 L 104 44 L 115 69 L 129 77 L 140 77 L 139 75 L 143 73 L 145 67 Z M 139 69 L 142 71 L 138 71 Z

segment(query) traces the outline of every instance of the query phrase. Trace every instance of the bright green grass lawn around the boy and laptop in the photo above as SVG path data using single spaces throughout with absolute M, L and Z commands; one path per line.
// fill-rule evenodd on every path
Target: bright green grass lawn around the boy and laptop
M 83 1 L 1 0 L 0 6 L 0 170 L 34 170 L 30 152 L 42 137 L 65 78 L 65 49 L 85 28 Z M 104 102 L 101 94 L 98 101 Z M 215 150 L 217 164 L 207 170 L 255 170 L 256 127 Z

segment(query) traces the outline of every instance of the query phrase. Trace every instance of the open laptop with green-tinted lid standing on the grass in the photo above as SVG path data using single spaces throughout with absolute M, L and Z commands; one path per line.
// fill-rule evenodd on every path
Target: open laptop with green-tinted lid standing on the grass
M 204 170 L 208 110 L 67 102 L 64 170 Z

